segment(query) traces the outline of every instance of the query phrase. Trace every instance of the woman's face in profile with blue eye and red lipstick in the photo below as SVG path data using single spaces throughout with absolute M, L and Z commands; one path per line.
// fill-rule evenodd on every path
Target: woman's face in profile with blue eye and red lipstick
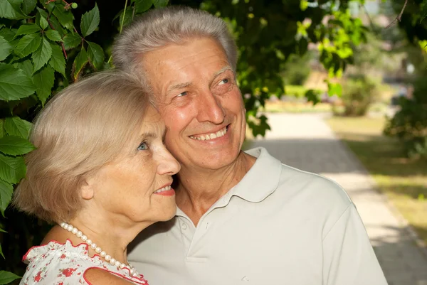
M 176 212 L 172 175 L 180 166 L 163 144 L 164 123 L 149 107 L 141 129 L 135 131 L 138 139 L 129 142 L 125 158 L 103 166 L 88 180 L 90 200 L 113 220 L 169 220 Z

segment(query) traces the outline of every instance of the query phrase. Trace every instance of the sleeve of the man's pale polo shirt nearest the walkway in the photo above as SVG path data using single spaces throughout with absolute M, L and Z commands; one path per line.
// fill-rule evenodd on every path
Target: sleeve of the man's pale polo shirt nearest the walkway
M 323 239 L 323 285 L 387 285 L 363 222 L 350 204 Z

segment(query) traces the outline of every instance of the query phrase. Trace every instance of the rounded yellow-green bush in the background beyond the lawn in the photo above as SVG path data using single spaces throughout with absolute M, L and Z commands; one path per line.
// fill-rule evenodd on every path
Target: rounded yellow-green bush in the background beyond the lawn
M 342 85 L 342 115 L 348 117 L 364 116 L 376 98 L 376 83 L 365 75 L 353 75 Z

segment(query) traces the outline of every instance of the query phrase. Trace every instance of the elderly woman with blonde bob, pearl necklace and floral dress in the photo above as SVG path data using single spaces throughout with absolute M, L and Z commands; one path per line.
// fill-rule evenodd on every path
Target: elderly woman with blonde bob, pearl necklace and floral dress
M 48 102 L 14 205 L 58 225 L 23 257 L 21 284 L 147 284 L 126 247 L 176 212 L 180 166 L 164 131 L 137 80 L 122 73 L 94 75 Z

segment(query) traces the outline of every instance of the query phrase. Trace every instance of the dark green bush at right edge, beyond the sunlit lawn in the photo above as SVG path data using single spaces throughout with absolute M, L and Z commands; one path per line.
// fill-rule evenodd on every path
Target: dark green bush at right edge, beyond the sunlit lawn
M 427 81 L 426 75 L 414 82 L 413 98 L 399 98 L 400 109 L 390 118 L 384 134 L 398 138 L 408 156 L 427 158 Z

